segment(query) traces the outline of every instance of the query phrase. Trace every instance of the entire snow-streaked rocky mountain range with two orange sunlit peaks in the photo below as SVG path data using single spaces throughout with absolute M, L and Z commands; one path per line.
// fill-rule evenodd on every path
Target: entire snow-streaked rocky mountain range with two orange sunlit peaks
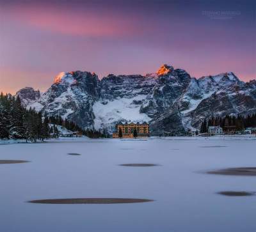
M 256 81 L 240 81 L 232 72 L 195 79 L 163 65 L 156 73 L 62 72 L 42 95 L 32 88 L 17 95 L 26 107 L 74 121 L 83 128 L 108 128 L 117 122 L 150 123 L 152 134 L 184 134 L 204 118 L 256 112 Z

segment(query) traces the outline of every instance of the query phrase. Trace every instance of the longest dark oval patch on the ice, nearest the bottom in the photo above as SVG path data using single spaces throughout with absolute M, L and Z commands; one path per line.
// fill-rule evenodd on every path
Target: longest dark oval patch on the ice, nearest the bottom
M 41 199 L 28 201 L 38 204 L 124 204 L 124 203 L 143 203 L 154 201 L 151 199 L 138 198 L 65 198 L 65 199 Z

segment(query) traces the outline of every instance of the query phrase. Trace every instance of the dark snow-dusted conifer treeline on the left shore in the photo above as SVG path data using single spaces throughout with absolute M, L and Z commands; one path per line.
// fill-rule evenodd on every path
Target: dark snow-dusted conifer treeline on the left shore
M 106 129 L 83 130 L 76 123 L 60 116 L 47 116 L 34 109 L 22 107 L 19 97 L 0 95 L 0 139 L 26 139 L 35 143 L 50 137 L 59 137 L 58 125 L 90 138 L 109 137 Z

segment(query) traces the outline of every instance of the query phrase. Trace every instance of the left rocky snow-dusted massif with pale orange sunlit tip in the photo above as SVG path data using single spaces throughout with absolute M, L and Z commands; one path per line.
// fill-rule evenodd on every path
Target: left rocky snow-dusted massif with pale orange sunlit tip
M 100 81 L 94 73 L 62 72 L 54 78 L 51 88 L 27 107 L 35 107 L 49 116 L 60 115 L 81 127 L 92 127 L 92 106 L 99 99 L 99 93 Z

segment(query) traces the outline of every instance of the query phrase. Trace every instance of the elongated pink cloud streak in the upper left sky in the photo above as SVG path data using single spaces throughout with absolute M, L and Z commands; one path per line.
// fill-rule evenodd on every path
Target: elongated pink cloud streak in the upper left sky
M 140 33 L 138 19 L 119 17 L 115 12 L 92 12 L 90 8 L 61 8 L 54 5 L 6 6 L 0 11 L 8 20 L 74 36 L 127 36 Z M 135 22 L 136 21 L 136 22 Z

